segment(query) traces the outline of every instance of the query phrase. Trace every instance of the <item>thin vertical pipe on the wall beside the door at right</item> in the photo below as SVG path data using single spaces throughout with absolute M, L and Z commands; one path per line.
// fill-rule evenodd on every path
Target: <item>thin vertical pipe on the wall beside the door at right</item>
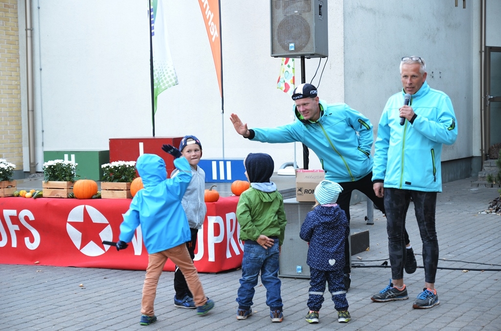
M 483 161 L 488 152 L 487 119 L 485 109 L 485 0 L 480 0 L 480 153 Z

